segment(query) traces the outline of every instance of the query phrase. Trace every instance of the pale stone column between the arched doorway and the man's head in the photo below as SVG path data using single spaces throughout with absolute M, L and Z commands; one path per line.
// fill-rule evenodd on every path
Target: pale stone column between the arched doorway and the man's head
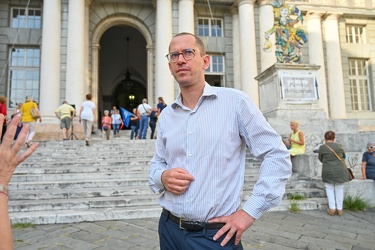
M 155 32 L 155 98 L 162 96 L 167 103 L 174 101 L 174 81 L 165 55 L 172 39 L 172 1 L 156 1 Z M 149 98 L 152 98 L 150 96 Z

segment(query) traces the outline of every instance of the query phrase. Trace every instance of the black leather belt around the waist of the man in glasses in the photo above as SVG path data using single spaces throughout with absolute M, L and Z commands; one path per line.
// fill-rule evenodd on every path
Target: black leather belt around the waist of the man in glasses
M 171 212 L 169 212 L 167 209 L 163 208 L 164 215 L 168 217 L 169 220 L 176 223 L 181 229 L 188 230 L 188 231 L 201 231 L 203 229 L 220 229 L 222 228 L 225 223 L 207 223 L 207 222 L 201 222 L 201 221 L 191 221 L 191 220 L 185 220 L 181 219 L 177 216 L 174 216 Z

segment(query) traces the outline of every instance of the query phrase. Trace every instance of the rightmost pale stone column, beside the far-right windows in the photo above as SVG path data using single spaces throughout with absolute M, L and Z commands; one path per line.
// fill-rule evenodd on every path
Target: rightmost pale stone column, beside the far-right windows
M 329 13 L 325 20 L 325 38 L 328 72 L 328 100 L 332 119 L 346 118 L 344 78 L 342 73 L 338 17 Z

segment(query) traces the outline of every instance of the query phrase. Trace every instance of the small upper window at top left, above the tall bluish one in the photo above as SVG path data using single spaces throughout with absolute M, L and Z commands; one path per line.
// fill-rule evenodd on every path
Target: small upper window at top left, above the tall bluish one
M 12 28 L 41 29 L 40 9 L 12 8 Z

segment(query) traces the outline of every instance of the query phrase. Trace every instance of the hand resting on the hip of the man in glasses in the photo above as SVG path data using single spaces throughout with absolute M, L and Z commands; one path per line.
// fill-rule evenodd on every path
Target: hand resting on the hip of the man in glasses
M 208 222 L 225 223 L 225 226 L 223 226 L 214 236 L 214 241 L 216 241 L 222 235 L 228 232 L 224 240 L 221 242 L 221 246 L 225 246 L 228 243 L 228 241 L 233 237 L 233 235 L 236 235 L 234 244 L 238 245 L 240 243 L 242 234 L 254 223 L 254 221 L 255 219 L 253 217 L 251 217 L 248 213 L 241 209 L 231 214 L 230 216 L 213 218 Z

